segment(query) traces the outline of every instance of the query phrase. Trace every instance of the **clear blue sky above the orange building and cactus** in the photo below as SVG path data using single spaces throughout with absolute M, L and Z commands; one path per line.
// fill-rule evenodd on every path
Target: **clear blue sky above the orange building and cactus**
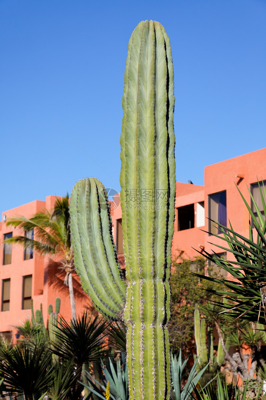
M 265 0 L 0 0 L 0 218 L 87 176 L 120 190 L 127 46 L 146 19 L 171 42 L 176 179 L 203 185 L 206 165 L 266 146 Z

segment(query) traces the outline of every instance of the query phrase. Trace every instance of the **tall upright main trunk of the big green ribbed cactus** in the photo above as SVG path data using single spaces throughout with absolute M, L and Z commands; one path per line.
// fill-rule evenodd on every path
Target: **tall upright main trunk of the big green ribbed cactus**
M 122 101 L 120 183 L 129 280 L 125 320 L 129 321 L 127 353 L 131 353 L 132 364 L 130 392 L 135 399 L 144 394 L 147 399 L 164 398 L 170 382 L 166 324 L 174 212 L 169 215 L 168 209 L 170 202 L 174 204 L 175 184 L 169 184 L 169 163 L 173 172 L 175 162 L 173 129 L 171 154 L 168 151 L 167 123 L 170 107 L 173 114 L 173 96 L 171 93 L 170 104 L 166 47 L 160 24 L 143 21 L 137 26 L 130 39 Z M 174 172 L 171 181 L 175 182 Z M 140 380 L 134 382 L 131 368 Z

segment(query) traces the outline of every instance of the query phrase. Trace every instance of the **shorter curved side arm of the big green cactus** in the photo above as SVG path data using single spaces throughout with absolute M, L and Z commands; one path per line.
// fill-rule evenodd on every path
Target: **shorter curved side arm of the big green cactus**
M 70 213 L 75 265 L 83 288 L 102 314 L 118 318 L 126 286 L 112 239 L 107 195 L 97 179 L 77 182 L 71 194 Z

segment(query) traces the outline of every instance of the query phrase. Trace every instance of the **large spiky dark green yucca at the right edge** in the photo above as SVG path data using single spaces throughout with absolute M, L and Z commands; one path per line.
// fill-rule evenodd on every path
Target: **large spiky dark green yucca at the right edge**
M 211 293 L 222 296 L 224 302 L 215 302 L 223 312 L 234 318 L 242 318 L 251 322 L 266 322 L 266 202 L 264 185 L 260 187 L 260 196 L 264 215 L 260 212 L 249 190 L 251 200 L 254 204 L 257 216 L 252 212 L 248 202 L 238 189 L 246 208 L 249 219 L 249 238 L 238 234 L 230 227 L 223 226 L 213 221 L 223 232 L 221 235 L 213 235 L 225 242 L 225 245 L 217 245 L 232 254 L 235 261 L 223 260 L 217 254 L 204 252 L 205 257 L 223 268 L 227 276 L 214 278 L 212 276 L 202 277 L 212 282 L 218 282 L 226 287 L 226 290 L 209 290 Z M 253 229 L 256 230 L 257 238 L 254 240 Z

